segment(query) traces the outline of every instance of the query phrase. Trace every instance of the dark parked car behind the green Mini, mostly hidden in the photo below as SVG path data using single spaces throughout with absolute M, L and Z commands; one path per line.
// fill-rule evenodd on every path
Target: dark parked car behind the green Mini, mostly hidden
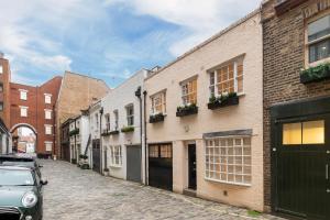
M 31 167 L 34 168 L 38 177 L 42 178 L 40 170 L 42 166 L 33 157 L 21 155 L 0 155 L 0 165 Z

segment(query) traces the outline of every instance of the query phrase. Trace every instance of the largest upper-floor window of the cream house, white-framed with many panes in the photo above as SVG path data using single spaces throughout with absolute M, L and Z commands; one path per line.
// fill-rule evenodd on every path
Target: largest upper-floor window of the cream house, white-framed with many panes
M 243 58 L 239 58 L 210 73 L 210 96 L 223 92 L 243 92 Z

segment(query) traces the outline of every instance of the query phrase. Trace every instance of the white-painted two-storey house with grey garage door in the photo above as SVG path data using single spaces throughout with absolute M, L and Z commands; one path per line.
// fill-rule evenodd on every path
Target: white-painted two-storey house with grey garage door
M 106 173 L 143 183 L 143 81 L 150 70 L 141 69 L 102 100 L 102 150 Z

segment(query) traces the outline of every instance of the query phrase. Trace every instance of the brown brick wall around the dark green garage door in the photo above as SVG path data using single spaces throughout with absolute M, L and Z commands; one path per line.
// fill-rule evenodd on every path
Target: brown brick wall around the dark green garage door
M 264 191 L 265 206 L 271 206 L 271 139 L 272 105 L 305 98 L 330 96 L 330 80 L 302 85 L 299 70 L 305 61 L 305 21 L 301 9 L 309 1 L 282 15 L 274 11 L 275 0 L 263 4 L 264 46 Z

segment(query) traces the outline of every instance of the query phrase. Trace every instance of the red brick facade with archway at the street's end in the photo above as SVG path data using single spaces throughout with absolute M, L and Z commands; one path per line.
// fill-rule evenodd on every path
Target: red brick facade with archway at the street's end
M 20 125 L 28 125 L 36 132 L 37 154 L 53 154 L 55 145 L 55 105 L 62 77 L 55 77 L 42 86 L 31 87 L 21 84 L 10 84 L 10 129 L 13 132 Z M 21 99 L 21 91 L 26 92 L 26 100 Z M 45 95 L 51 96 L 51 103 L 45 102 Z M 28 116 L 21 116 L 21 108 L 28 108 Z M 45 110 L 52 111 L 51 119 L 45 118 Z M 52 125 L 52 134 L 45 133 L 45 125 Z M 52 151 L 46 151 L 45 143 L 52 143 Z

